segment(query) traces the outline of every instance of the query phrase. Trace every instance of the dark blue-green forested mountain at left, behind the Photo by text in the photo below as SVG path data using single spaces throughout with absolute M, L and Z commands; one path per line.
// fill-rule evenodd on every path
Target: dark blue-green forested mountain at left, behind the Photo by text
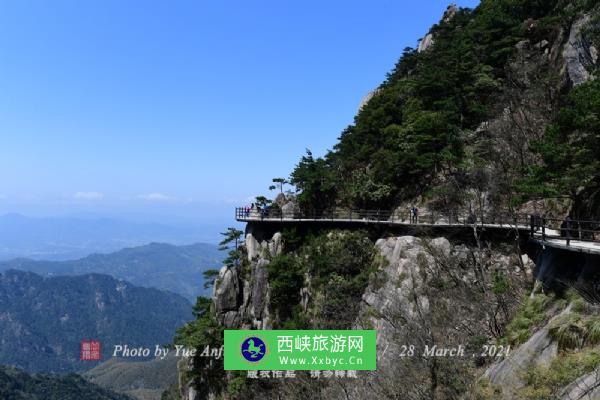
M 172 342 L 190 320 L 180 295 L 142 288 L 107 275 L 44 278 L 16 270 L 0 274 L 0 364 L 30 372 L 70 372 L 99 362 L 80 360 L 80 342 L 152 347 Z

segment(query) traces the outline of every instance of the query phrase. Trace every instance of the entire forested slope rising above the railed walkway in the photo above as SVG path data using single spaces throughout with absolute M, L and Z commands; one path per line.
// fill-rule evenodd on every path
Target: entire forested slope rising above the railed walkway
M 300 205 L 447 209 L 483 193 L 488 207 L 565 199 L 587 204 L 576 212 L 590 217 L 600 84 L 588 78 L 599 35 L 597 16 L 583 13 L 595 5 L 449 9 L 433 44 L 405 49 L 333 150 L 302 158 L 291 175 Z

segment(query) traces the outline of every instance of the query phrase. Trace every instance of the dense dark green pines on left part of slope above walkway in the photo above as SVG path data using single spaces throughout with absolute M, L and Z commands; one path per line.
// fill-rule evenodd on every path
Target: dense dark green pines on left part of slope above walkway
M 334 149 L 300 160 L 291 183 L 301 207 L 391 208 L 447 190 L 441 176 L 476 173 L 477 155 L 465 152 L 467 132 L 496 111 L 504 66 L 526 36 L 523 21 L 544 17 L 557 3 L 484 0 L 434 26 L 428 51 L 405 49 Z

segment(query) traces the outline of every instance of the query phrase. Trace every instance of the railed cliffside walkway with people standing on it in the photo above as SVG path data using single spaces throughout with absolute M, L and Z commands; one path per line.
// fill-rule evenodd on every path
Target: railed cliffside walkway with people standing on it
M 333 211 L 281 211 L 277 208 L 266 210 L 235 209 L 239 222 L 308 224 L 336 223 L 340 225 L 399 225 L 407 227 L 444 229 L 500 229 L 513 230 L 528 235 L 529 239 L 542 246 L 568 251 L 600 255 L 600 221 L 558 220 L 539 215 L 509 213 L 446 213 L 428 212 L 419 214 L 417 221 L 411 221 L 409 212 L 398 213 L 382 210 L 333 210 Z

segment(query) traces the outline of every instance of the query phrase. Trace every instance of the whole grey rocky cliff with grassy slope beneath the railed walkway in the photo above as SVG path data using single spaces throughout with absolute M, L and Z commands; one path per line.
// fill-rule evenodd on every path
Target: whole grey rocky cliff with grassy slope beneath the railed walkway
M 248 269 L 223 269 L 215 285 L 217 319 L 240 329 L 338 328 L 338 320 L 322 315 L 340 299 L 334 295 L 339 271 L 319 276 L 310 266 L 322 262 L 320 257 L 331 261 L 328 257 L 340 256 L 344 240 L 355 248 L 357 238 L 349 235 L 324 231 L 304 239 L 311 249 L 286 250 L 281 233 L 260 241 L 248 234 Z M 315 253 L 316 243 L 329 249 Z M 210 393 L 199 393 L 187 382 L 183 398 L 535 399 L 548 391 L 562 393 L 561 398 L 595 398 L 600 387 L 595 375 L 600 366 L 600 335 L 594 331 L 598 309 L 574 292 L 543 293 L 535 284 L 534 263 L 515 252 L 510 241 L 473 246 L 443 237 L 401 236 L 380 238 L 370 246 L 375 268 L 365 265 L 369 279 L 357 307 L 344 306 L 354 310 L 348 327 L 377 330 L 376 372 L 360 372 L 351 380 L 315 380 L 298 373 L 296 379 L 275 381 L 223 374 L 219 389 Z M 285 320 L 271 290 L 277 279 L 269 277 L 268 268 L 281 257 L 298 257 L 296 262 L 309 266 L 300 271 L 302 287 L 288 296 L 290 303 L 297 302 L 290 305 L 298 306 L 299 314 L 286 314 Z M 333 312 L 344 319 L 338 309 Z M 435 346 L 462 346 L 465 355 L 428 354 Z

